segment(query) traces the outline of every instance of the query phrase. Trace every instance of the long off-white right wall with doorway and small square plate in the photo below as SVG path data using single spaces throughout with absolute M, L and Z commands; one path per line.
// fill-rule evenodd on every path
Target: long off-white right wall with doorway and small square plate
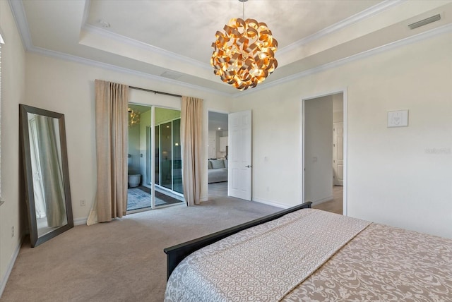
M 447 32 L 234 100 L 253 111 L 254 199 L 301 202 L 301 100 L 346 87 L 347 214 L 452 238 L 451 53 Z M 398 109 L 410 126 L 386 128 Z

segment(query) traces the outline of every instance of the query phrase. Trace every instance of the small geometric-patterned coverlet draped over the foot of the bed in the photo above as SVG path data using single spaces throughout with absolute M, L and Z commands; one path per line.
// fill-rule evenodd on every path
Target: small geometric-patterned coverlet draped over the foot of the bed
M 165 301 L 280 301 L 368 225 L 304 209 L 246 229 L 180 262 Z

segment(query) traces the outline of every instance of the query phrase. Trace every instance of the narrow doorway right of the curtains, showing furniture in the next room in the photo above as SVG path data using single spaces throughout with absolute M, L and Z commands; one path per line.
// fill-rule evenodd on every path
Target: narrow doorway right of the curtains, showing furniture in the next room
M 227 196 L 228 114 L 208 112 L 208 199 Z

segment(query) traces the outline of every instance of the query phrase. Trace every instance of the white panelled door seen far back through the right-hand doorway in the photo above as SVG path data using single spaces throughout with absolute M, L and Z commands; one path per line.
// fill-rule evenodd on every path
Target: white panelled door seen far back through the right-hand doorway
M 333 184 L 344 185 L 344 123 L 333 123 Z

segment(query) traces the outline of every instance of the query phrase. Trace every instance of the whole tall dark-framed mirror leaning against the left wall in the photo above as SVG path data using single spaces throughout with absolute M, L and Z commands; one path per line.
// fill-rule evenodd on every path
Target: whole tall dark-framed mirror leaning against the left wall
M 73 227 L 64 114 L 19 104 L 30 244 Z

